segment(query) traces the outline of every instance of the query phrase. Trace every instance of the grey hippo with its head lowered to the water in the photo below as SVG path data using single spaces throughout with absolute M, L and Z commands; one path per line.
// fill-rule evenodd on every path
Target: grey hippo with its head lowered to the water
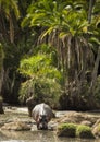
M 54 117 L 54 114 L 49 105 L 41 103 L 34 107 L 32 117 L 36 121 L 38 130 L 47 130 L 48 122 Z

